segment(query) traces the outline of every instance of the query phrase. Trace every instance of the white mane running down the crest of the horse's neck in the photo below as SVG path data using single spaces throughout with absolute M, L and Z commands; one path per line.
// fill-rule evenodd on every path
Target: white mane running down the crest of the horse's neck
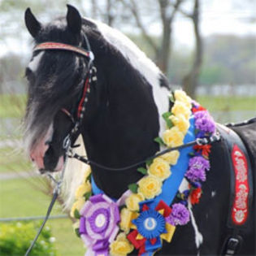
M 145 53 L 142 52 L 128 37 L 123 33 L 120 33 L 115 28 L 111 28 L 106 24 L 102 24 L 96 20 L 88 19 L 97 25 L 102 36 L 113 47 L 120 51 L 126 59 L 132 64 L 132 67 L 136 68 L 141 75 L 150 83 L 153 89 L 154 102 L 158 108 L 159 116 L 159 136 L 161 136 L 165 130 L 165 121 L 162 118 L 162 114 L 169 110 L 169 91 L 165 87 L 159 85 L 159 79 L 162 75 L 159 68 L 148 58 Z

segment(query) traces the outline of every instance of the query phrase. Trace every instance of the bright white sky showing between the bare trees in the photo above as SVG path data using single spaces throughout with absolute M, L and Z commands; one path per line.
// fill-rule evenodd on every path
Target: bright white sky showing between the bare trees
M 188 0 L 188 2 L 192 1 Z M 200 28 L 203 37 L 216 33 L 238 36 L 254 35 L 256 37 L 256 0 L 202 0 L 201 2 Z M 187 5 L 187 9 L 189 7 L 191 5 Z M 184 11 L 186 10 L 184 9 Z M 254 22 L 252 22 L 253 18 Z M 191 20 L 184 18 L 183 15 L 178 15 L 173 28 L 174 47 L 192 48 L 194 35 Z M 149 30 L 157 33 L 160 31 L 160 26 L 157 23 L 152 23 Z M 24 33 L 22 38 L 12 37 L 7 38 L 4 44 L 0 42 L 0 57 L 10 51 L 25 54 L 29 49 L 31 46 L 29 46 L 28 33 Z

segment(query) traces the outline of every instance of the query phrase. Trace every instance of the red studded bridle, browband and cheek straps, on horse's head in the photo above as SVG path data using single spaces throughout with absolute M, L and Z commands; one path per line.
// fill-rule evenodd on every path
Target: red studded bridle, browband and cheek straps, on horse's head
M 64 138 L 63 140 L 63 148 L 66 148 L 66 143 L 67 141 L 71 140 L 73 137 L 77 137 L 78 132 L 80 131 L 80 124 L 82 122 L 82 119 L 84 118 L 85 115 L 85 105 L 86 102 L 88 102 L 88 96 L 90 93 L 90 85 L 92 82 L 96 82 L 97 76 L 96 72 L 97 69 L 96 67 L 93 66 L 93 59 L 94 59 L 94 54 L 91 50 L 91 47 L 89 45 L 88 38 L 85 36 L 85 43 L 86 43 L 86 48 L 87 50 L 79 47 L 79 46 L 72 46 L 60 42 L 55 42 L 55 41 L 46 41 L 43 42 L 33 49 L 33 51 L 38 51 L 38 50 L 66 50 L 66 51 L 71 51 L 75 54 L 79 54 L 82 57 L 85 57 L 85 59 L 88 60 L 87 62 L 87 67 L 88 71 L 85 74 L 85 84 L 82 92 L 82 96 L 80 98 L 80 101 L 78 102 L 78 107 L 76 111 L 76 116 L 73 116 L 67 109 L 62 108 L 61 111 L 63 111 L 64 114 L 68 116 L 69 119 L 72 120 L 72 130 L 67 134 L 67 137 Z M 74 142 L 74 141 L 72 141 Z

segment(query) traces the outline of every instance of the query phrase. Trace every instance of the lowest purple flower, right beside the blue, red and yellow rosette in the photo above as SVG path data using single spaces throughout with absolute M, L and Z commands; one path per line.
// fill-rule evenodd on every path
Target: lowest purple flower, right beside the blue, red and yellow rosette
M 181 203 L 175 203 L 171 206 L 171 215 L 166 218 L 167 223 L 173 226 L 185 225 L 189 222 L 189 210 Z

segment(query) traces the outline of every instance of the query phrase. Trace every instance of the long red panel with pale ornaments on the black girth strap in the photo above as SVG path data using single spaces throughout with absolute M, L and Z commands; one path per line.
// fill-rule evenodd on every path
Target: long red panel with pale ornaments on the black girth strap
M 234 145 L 232 149 L 232 163 L 235 171 L 235 199 L 232 206 L 232 221 L 236 225 L 245 223 L 248 215 L 248 163 L 243 151 Z

